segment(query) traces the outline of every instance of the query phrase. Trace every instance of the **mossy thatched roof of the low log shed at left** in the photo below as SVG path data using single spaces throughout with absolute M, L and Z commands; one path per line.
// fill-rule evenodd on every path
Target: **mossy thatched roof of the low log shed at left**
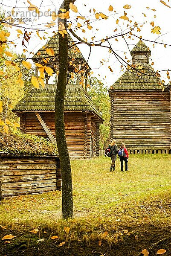
M 58 150 L 43 137 L 0 130 L 0 156 L 58 156 Z

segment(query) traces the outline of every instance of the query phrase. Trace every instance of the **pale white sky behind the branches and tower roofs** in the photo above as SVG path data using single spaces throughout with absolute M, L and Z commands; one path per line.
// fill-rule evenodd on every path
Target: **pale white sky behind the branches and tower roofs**
M 27 3 L 27 1 L 0 0 L 1 7 L 6 11 L 6 15 L 8 14 L 7 12 L 10 12 L 12 10 L 12 7 L 16 6 L 16 8 L 14 9 L 15 12 L 13 18 L 20 17 L 30 19 L 28 20 L 27 25 L 28 28 L 32 29 L 33 34 L 31 40 L 29 41 L 29 45 L 26 45 L 28 46 L 28 52 L 35 53 L 38 49 L 40 49 L 43 46 L 43 44 L 46 43 L 46 40 L 39 40 L 39 38 L 35 36 L 34 29 L 41 29 L 42 31 L 39 32 L 40 36 L 44 35 L 47 39 L 49 39 L 48 37 L 53 35 L 52 31 L 57 30 L 57 26 L 51 29 L 44 26 L 47 22 L 50 22 L 50 20 L 52 20 L 50 16 L 46 17 L 47 11 L 48 9 L 50 9 L 49 12 L 55 10 L 57 12 L 62 1 L 30 0 L 30 2 L 35 6 L 41 6 L 39 9 L 41 11 L 42 16 L 39 17 L 39 19 L 37 17 L 34 17 L 33 14 L 30 14 L 30 12 L 28 12 L 27 7 L 29 6 L 29 3 Z M 169 3 L 168 0 L 165 0 L 165 3 L 171 6 L 171 3 Z M 130 5 L 131 8 L 124 9 L 123 6 L 125 6 L 126 4 Z M 113 6 L 113 9 L 116 10 L 116 12 L 114 12 L 114 10 L 113 12 L 108 11 L 110 5 Z M 75 21 L 76 16 L 82 15 L 86 17 L 86 20 L 90 19 L 90 25 L 93 27 L 93 29 L 87 29 L 87 25 L 84 25 L 83 23 L 84 20 L 79 19 L 78 22 L 83 25 L 81 29 L 85 29 L 86 32 L 81 32 L 81 29 L 78 29 L 76 31 L 76 33 L 81 38 L 85 37 L 88 41 L 92 42 L 92 37 L 95 37 L 94 41 L 101 41 L 101 39 L 106 38 L 107 36 L 110 37 L 120 32 L 127 32 L 127 24 L 133 25 L 133 23 L 136 21 L 141 31 L 137 32 L 137 29 L 135 29 L 133 34 L 137 36 L 142 36 L 142 38 L 145 38 L 149 41 L 157 41 L 162 42 L 164 44 L 171 44 L 171 8 L 168 8 L 167 6 L 163 5 L 159 0 L 76 0 L 75 6 L 77 6 L 78 8 L 78 13 L 70 11 L 70 20 L 72 20 L 72 28 L 74 28 L 74 26 L 77 24 L 77 22 Z M 96 20 L 95 14 L 93 13 L 93 8 L 96 10 L 96 12 L 102 12 L 109 18 L 107 20 Z M 132 23 L 129 23 L 127 20 L 119 19 L 119 17 L 124 15 L 124 11 L 127 13 L 127 17 L 129 18 L 129 20 L 132 20 Z M 17 16 L 16 12 L 18 12 Z M 29 17 L 29 15 L 31 16 Z M 119 25 L 116 24 L 117 19 L 119 19 Z M 160 27 L 161 34 L 157 35 L 151 33 L 151 29 L 153 28 L 153 26 L 150 25 L 150 22 L 152 21 L 154 21 L 154 26 Z M 143 23 L 144 25 L 142 26 Z M 20 25 L 23 26 L 24 24 Z M 113 30 L 115 30 L 116 28 L 117 31 L 113 32 Z M 15 31 L 15 29 L 21 29 L 23 32 L 24 29 L 16 27 L 11 30 L 10 39 L 14 40 L 15 44 L 17 44 L 15 51 L 21 53 L 23 51 L 23 47 L 21 45 L 22 39 L 17 38 L 17 32 Z M 30 31 L 29 29 L 27 30 Z M 44 31 L 48 32 L 49 35 L 45 34 Z M 119 41 L 115 41 L 115 39 L 110 39 L 110 44 L 112 45 L 113 49 L 122 58 L 125 59 L 126 56 L 128 59 L 130 59 L 128 46 L 131 50 L 134 47 L 134 45 L 139 41 L 139 39 L 135 37 L 131 37 L 130 39 L 125 37 L 128 46 L 124 38 L 119 37 L 118 40 Z M 171 47 L 164 47 L 160 44 L 157 44 L 155 45 L 155 47 L 153 47 L 154 43 L 148 41 L 144 42 L 151 49 L 150 63 L 152 61 L 154 62 L 154 70 L 171 70 Z M 104 45 L 107 45 L 107 43 L 104 43 Z M 84 58 L 87 59 L 89 55 L 89 47 L 87 45 L 80 44 L 79 49 L 84 55 Z M 27 56 L 32 57 L 32 55 L 30 54 Z M 100 63 L 102 59 L 104 59 L 103 65 Z M 125 60 L 127 61 L 128 59 Z M 113 84 L 123 73 L 120 67 L 121 63 L 119 63 L 119 61 L 113 56 L 113 54 L 109 53 L 108 50 L 101 47 L 92 47 L 92 53 L 90 55 L 88 63 L 92 68 L 93 76 L 96 76 L 97 78 L 101 79 L 104 82 L 104 84 L 107 85 L 107 87 L 110 87 L 110 85 Z M 108 66 L 110 66 L 113 70 L 112 73 L 110 72 Z M 161 78 L 164 79 L 167 84 L 169 80 L 166 77 L 166 72 L 162 72 L 160 74 Z

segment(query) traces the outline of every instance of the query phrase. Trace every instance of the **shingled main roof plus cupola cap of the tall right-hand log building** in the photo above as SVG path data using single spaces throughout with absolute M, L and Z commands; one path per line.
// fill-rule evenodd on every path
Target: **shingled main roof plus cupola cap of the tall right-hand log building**
M 150 49 L 140 40 L 131 51 L 132 53 L 150 54 Z M 136 68 L 136 70 L 135 70 Z M 128 70 L 109 88 L 110 90 L 161 90 L 162 82 L 149 61 L 146 63 L 136 63 L 132 67 L 128 66 Z

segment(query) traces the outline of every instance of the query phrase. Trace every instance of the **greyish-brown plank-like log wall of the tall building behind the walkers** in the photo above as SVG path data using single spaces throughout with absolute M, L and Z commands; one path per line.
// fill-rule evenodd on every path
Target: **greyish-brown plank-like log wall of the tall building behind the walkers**
M 133 150 L 169 150 L 171 145 L 169 92 L 113 91 L 110 140 Z

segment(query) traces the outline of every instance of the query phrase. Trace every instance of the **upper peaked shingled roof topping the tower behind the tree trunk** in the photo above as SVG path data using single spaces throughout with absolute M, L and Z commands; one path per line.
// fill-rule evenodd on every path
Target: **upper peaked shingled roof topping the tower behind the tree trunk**
M 74 44 L 74 41 L 72 40 L 71 36 L 68 35 L 68 46 L 69 46 L 69 51 L 68 51 L 68 57 L 69 61 L 71 61 L 72 58 L 77 60 L 78 62 L 86 62 L 84 59 L 83 55 L 81 54 L 79 48 L 75 45 L 73 47 L 72 44 Z M 71 48 L 70 48 L 71 47 Z M 52 48 L 54 50 L 54 56 L 50 56 L 46 53 L 47 48 Z M 42 58 L 48 58 L 49 61 L 55 61 L 58 60 L 58 55 L 59 55 L 59 37 L 58 33 L 55 33 L 55 35 L 52 36 L 52 38 L 43 46 L 41 49 L 39 49 L 35 55 L 33 55 L 32 60 L 34 62 L 40 62 Z

